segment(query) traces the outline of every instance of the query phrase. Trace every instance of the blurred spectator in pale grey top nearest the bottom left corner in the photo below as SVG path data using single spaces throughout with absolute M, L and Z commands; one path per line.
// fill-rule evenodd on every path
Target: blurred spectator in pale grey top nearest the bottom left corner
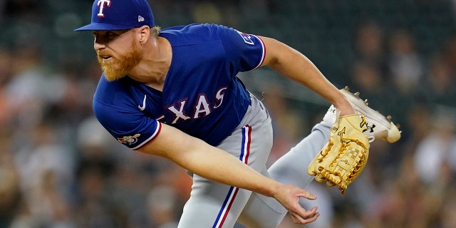
M 46 121 L 36 125 L 30 137 L 30 147 L 22 147 L 16 153 L 24 207 L 36 224 L 54 227 L 67 223 L 71 220 L 68 197 L 75 157 Z

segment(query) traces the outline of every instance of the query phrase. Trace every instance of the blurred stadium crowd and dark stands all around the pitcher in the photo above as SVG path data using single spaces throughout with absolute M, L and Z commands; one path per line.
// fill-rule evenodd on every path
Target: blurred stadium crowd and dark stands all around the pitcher
M 93 39 L 73 32 L 92 2 L 0 1 L 0 227 L 176 227 L 185 171 L 130 152 L 93 119 Z M 309 186 L 319 198 L 304 204 L 321 217 L 306 227 L 456 227 L 456 1 L 149 2 L 162 28 L 217 23 L 284 41 L 401 125 L 399 142 L 372 143 L 344 197 Z M 240 77 L 274 116 L 269 162 L 328 108 L 266 68 Z

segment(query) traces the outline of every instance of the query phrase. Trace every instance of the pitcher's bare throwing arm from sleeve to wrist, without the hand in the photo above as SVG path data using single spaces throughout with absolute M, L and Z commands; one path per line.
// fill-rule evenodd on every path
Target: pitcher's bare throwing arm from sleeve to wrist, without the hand
M 176 143 L 176 139 L 179 142 Z M 166 157 L 196 175 L 271 197 L 281 183 L 271 180 L 217 147 L 162 125 L 160 134 L 140 152 Z

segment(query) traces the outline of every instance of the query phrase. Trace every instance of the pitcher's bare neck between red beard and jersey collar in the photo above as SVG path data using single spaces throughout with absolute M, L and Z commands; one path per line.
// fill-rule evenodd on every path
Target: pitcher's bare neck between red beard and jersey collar
M 147 86 L 162 90 L 165 78 L 170 69 L 172 60 L 172 48 L 170 42 L 165 38 L 158 37 L 157 40 L 147 46 L 142 61 L 128 73 L 130 78 Z

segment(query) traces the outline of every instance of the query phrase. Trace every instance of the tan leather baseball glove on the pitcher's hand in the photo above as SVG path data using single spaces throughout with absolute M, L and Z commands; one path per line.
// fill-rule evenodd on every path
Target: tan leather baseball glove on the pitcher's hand
M 318 182 L 335 186 L 344 195 L 347 186 L 361 174 L 369 155 L 366 119 L 361 114 L 336 118 L 328 143 L 316 155 L 307 172 Z

